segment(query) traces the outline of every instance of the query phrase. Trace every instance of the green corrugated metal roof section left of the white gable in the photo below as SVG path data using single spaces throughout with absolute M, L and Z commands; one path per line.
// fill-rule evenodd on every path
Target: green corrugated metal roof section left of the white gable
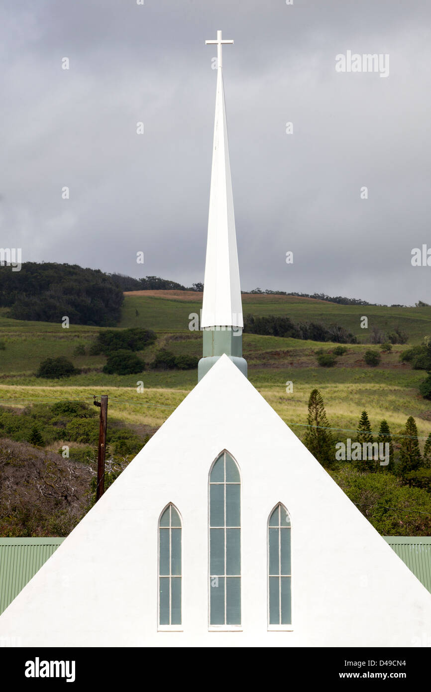
M 63 541 L 64 538 L 0 538 L 0 613 Z

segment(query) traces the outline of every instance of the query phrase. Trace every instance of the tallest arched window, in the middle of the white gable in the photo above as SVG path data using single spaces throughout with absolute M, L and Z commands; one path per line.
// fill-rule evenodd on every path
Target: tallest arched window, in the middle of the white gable
M 210 471 L 210 626 L 241 624 L 241 478 L 222 452 Z

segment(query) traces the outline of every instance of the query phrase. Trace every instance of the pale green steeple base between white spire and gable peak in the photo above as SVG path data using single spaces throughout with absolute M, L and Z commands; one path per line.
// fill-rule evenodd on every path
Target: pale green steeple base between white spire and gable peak
M 203 329 L 203 358 L 198 365 L 198 382 L 226 354 L 247 376 L 247 361 L 242 357 L 242 329 L 235 327 L 205 327 Z

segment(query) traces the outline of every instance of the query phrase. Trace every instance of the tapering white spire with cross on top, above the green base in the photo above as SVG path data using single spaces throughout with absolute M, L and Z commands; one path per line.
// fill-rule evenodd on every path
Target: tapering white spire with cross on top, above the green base
M 221 31 L 217 31 L 217 41 L 205 43 L 217 44 L 218 65 L 201 327 L 242 327 L 237 236 L 221 71 L 221 44 L 233 41 L 222 41 Z

